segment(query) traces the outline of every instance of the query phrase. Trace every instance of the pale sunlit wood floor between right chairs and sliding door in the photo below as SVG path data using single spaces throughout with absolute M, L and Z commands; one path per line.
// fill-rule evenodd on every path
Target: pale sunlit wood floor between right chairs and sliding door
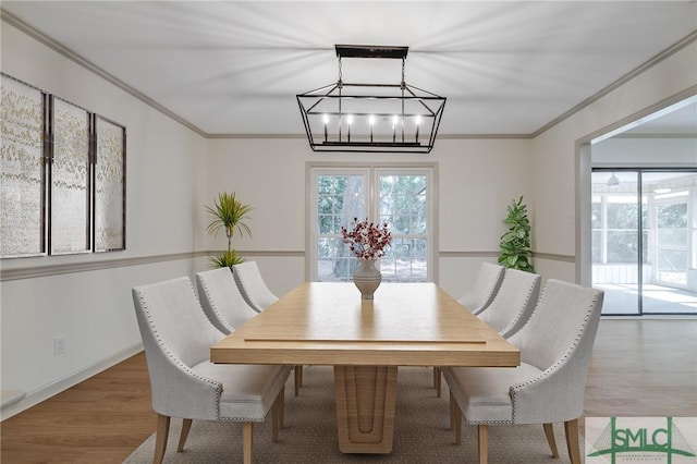
M 602 319 L 586 416 L 697 416 L 697 319 Z

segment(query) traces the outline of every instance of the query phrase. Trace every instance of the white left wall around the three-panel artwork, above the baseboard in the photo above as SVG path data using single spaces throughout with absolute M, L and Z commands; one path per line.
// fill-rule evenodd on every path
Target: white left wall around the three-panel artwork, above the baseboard
M 2 71 L 126 126 L 126 251 L 3 259 L 3 270 L 191 254 L 205 139 L 81 65 L 2 23 Z M 27 400 L 8 417 L 140 350 L 131 288 L 193 271 L 191 259 L 1 283 L 1 386 Z M 64 335 L 66 353 L 53 355 Z

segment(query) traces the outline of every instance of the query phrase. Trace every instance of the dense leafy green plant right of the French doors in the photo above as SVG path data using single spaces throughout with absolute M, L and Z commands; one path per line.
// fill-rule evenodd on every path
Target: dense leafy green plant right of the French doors
M 499 264 L 509 269 L 535 272 L 535 268 L 530 262 L 533 256 L 530 221 L 527 217 L 527 206 L 523 203 L 523 196 L 517 200 L 511 200 L 508 207 L 508 216 L 503 222 L 509 229 L 501 235 Z

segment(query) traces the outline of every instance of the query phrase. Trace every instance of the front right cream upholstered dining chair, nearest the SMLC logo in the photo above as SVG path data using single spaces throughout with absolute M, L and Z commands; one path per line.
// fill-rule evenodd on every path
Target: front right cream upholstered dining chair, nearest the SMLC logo
M 518 367 L 444 367 L 455 442 L 462 417 L 477 425 L 486 464 L 490 425 L 542 424 L 559 457 L 552 424 L 564 423 L 571 462 L 579 464 L 578 417 L 602 300 L 600 290 L 550 279 L 527 323 L 509 339 L 521 350 Z

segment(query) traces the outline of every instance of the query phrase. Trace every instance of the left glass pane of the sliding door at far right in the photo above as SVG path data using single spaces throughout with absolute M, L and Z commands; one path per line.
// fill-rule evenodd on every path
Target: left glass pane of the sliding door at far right
M 594 170 L 591 183 L 592 286 L 606 292 L 602 314 L 640 314 L 639 253 L 647 233 L 638 233 L 638 173 Z

